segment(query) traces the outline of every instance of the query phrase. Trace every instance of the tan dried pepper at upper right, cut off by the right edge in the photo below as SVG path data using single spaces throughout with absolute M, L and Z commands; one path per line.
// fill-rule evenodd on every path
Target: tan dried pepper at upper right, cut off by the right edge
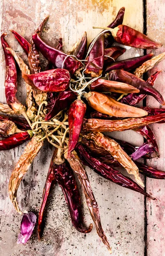
M 156 64 L 158 64 L 160 61 L 165 59 L 165 52 L 162 52 L 161 54 L 151 58 L 149 61 L 145 61 L 142 66 L 136 68 L 134 75 L 137 77 L 141 77 L 142 74 L 153 68 Z

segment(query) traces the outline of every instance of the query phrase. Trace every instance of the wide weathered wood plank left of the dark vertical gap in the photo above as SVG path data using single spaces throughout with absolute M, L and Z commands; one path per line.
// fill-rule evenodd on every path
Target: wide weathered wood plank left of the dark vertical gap
M 30 40 L 32 32 L 35 31 L 41 20 L 49 14 L 49 21 L 43 32 L 43 38 L 53 46 L 57 43 L 58 38 L 62 36 L 64 38 L 64 49 L 69 50 L 81 38 L 84 30 L 87 31 L 90 41 L 99 32 L 99 30 L 92 29 L 92 26 L 106 26 L 113 20 L 122 6 L 126 7 L 124 23 L 142 31 L 142 0 L 138 2 L 136 0 L 83 0 L 79 1 L 78 4 L 71 0 L 27 0 L 26 2 L 20 0 L 6 2 L 2 0 L 2 32 L 14 29 Z M 17 50 L 27 61 L 26 55 L 22 53 L 22 49 L 11 33 L 9 33 L 7 40 L 14 50 Z M 142 50 L 129 49 L 122 58 L 130 58 L 134 57 L 135 54 L 142 55 L 142 53 Z M 2 87 L 0 100 L 5 102 L 3 92 L 5 65 L 2 55 L 0 55 L 0 58 L 1 63 L 3 63 L 3 66 L 0 67 L 0 86 Z M 143 143 L 142 137 L 131 131 L 113 135 L 135 145 Z M 109 253 L 96 234 L 95 227 L 87 236 L 78 233 L 72 227 L 64 196 L 58 186 L 53 189 L 47 207 L 43 239 L 38 241 L 35 230 L 32 239 L 26 245 L 16 244 L 21 216 L 15 213 L 14 207 L 9 201 L 8 182 L 12 168 L 23 152 L 23 148 L 24 146 L 20 146 L 19 149 L 5 152 L 5 154 L 0 153 L 2 191 L 0 198 L 2 212 L 0 248 L 3 251 L 3 256 L 108 255 Z M 45 144 L 38 157 L 36 157 L 32 168 L 24 177 L 18 191 L 19 201 L 23 209 L 38 212 L 51 154 L 52 147 Z M 133 256 L 138 253 L 138 255 L 143 256 L 144 197 L 136 192 L 109 183 L 90 169 L 87 169 L 87 173 L 99 205 L 103 228 L 113 247 L 113 255 Z M 91 222 L 86 206 L 84 206 L 84 218 L 87 224 Z

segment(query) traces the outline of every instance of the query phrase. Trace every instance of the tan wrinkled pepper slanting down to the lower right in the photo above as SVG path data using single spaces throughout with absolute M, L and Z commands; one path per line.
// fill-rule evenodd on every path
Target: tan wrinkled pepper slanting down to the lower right
M 88 140 L 93 140 L 94 143 L 100 147 L 106 148 L 106 150 L 127 170 L 129 174 L 134 175 L 137 183 L 144 187 L 144 184 L 139 176 L 138 167 L 121 148 L 119 143 L 109 137 L 104 136 L 104 134 L 100 132 L 83 134 L 83 137 Z

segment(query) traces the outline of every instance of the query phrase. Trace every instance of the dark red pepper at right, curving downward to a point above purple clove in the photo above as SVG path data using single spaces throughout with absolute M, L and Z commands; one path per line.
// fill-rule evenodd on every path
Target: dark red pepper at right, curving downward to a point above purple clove
M 158 157 L 160 156 L 159 154 L 159 148 L 156 142 L 156 137 L 153 134 L 153 131 L 151 130 L 151 128 L 148 125 L 145 126 L 140 126 L 140 127 L 136 127 L 133 129 L 133 131 L 136 131 L 137 133 L 141 134 L 143 137 L 145 137 L 145 139 L 148 141 L 148 143 L 150 143 L 154 150 L 156 151 L 156 154 L 158 155 Z

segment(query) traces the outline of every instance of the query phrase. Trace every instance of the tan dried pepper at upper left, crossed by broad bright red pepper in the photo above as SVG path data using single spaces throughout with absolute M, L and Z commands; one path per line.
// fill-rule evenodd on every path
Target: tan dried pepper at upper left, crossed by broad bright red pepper
M 14 59 L 17 61 L 17 64 L 20 67 L 20 70 L 23 73 L 30 74 L 29 67 L 24 63 L 23 59 L 20 58 L 20 56 L 17 55 L 17 53 L 14 52 L 13 49 L 11 49 L 11 48 L 6 48 L 6 49 L 9 50 L 12 53 Z M 26 111 L 26 114 L 27 114 L 27 116 L 29 117 L 30 120 L 34 120 L 34 118 L 37 114 L 37 109 L 35 108 L 35 102 L 34 102 L 33 97 L 32 97 L 33 89 L 27 83 L 26 83 L 26 92 L 27 92 L 27 97 L 26 97 L 27 111 Z

